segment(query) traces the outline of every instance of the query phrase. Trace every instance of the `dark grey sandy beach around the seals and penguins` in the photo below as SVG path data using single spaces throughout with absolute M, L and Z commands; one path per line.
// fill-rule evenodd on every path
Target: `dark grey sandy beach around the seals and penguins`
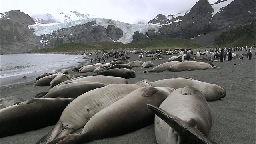
M 194 53 L 197 50 L 193 50 Z M 204 51 L 204 50 L 202 50 Z M 242 55 L 246 53 L 245 50 L 234 52 Z M 140 80 L 148 79 L 151 82 L 166 78 L 189 77 L 195 80 L 217 84 L 226 90 L 226 97 L 221 100 L 208 102 L 212 112 L 212 129 L 209 138 L 218 144 L 255 144 L 256 143 L 256 58 L 255 50 L 252 51 L 252 60 L 248 60 L 246 56 L 244 59 L 232 59 L 232 61 L 225 60 L 224 62 L 212 62 L 214 66 L 222 69 L 207 69 L 195 71 L 170 72 L 168 70 L 160 73 L 144 73 L 144 70 L 151 68 L 133 68 L 136 71 L 136 78 L 130 78 L 128 84 L 134 84 Z M 141 60 L 147 61 L 151 57 L 138 59 L 138 54 L 129 53 L 129 61 Z M 162 60 L 152 60 L 154 66 L 168 62 L 171 56 L 162 55 Z M 93 58 L 95 55 L 92 56 Z M 106 62 L 114 58 L 109 58 Z M 93 62 L 92 64 L 94 64 Z M 91 64 L 89 62 L 89 64 Z M 68 68 L 69 75 L 77 72 L 71 71 L 74 67 Z M 84 73 L 89 76 L 94 75 L 94 72 Z M 9 96 L 19 96 L 25 100 L 33 98 L 40 92 L 50 90 L 50 86 L 41 87 L 34 86 L 36 76 L 40 74 L 30 74 L 26 79 L 23 76 L 16 78 L 6 78 L 4 83 L 1 82 L 0 98 Z M 2 79 L 1 79 L 2 81 Z M 4 85 L 5 84 L 5 85 Z M 13 136 L 0 138 L 1 144 L 35 144 L 44 135 L 46 135 L 53 126 L 48 126 L 38 130 L 16 134 Z M 79 130 L 78 130 L 79 131 Z M 156 144 L 154 135 L 154 124 L 125 134 L 112 138 L 104 138 L 101 140 L 94 140 L 88 144 Z

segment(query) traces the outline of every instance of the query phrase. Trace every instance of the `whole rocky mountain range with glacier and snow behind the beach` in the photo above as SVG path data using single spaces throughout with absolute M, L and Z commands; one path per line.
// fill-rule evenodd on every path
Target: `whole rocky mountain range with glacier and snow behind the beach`
M 184 38 L 201 45 L 214 42 L 222 32 L 256 18 L 255 0 L 199 0 L 189 11 L 158 14 L 148 24 L 91 18 L 76 11 L 28 16 L 18 10 L 1 14 L 1 54 L 51 48 L 66 42 L 122 42 Z M 33 20 L 34 19 L 34 20 Z

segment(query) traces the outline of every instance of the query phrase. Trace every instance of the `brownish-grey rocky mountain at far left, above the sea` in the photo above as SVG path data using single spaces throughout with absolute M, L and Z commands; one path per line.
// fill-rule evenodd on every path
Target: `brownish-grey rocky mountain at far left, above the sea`
M 11 10 L 1 18 L 0 52 L 24 53 L 39 48 L 39 38 L 27 25 L 35 24 L 34 20 L 19 10 Z

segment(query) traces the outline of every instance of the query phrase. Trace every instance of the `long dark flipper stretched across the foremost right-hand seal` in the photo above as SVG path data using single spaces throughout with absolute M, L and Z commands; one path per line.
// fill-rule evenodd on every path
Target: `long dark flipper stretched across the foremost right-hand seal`
M 186 122 L 157 106 L 147 104 L 147 107 L 177 132 L 180 140 L 182 140 L 181 143 L 193 142 L 197 144 L 217 144 L 195 128 L 196 124 L 193 122 L 194 119 Z

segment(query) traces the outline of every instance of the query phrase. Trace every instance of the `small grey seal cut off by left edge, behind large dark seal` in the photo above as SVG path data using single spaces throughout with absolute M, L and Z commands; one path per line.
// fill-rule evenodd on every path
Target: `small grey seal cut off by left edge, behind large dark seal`
M 0 99 L 0 109 L 7 108 L 8 106 L 12 106 L 14 104 L 18 104 L 20 102 L 24 102 L 25 100 L 17 97 L 17 96 L 10 96 L 7 98 L 1 98 Z

